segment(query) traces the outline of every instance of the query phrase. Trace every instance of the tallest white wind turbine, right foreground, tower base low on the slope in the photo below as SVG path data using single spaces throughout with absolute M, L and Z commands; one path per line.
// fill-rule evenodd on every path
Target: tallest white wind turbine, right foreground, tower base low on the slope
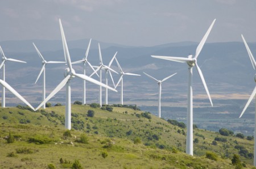
M 210 30 L 213 27 L 213 24 L 216 19 L 213 20 L 210 25 L 208 31 L 205 33 L 203 39 L 199 43 L 196 48 L 195 56 L 189 55 L 187 58 L 185 57 L 169 57 L 169 56 L 152 56 L 155 58 L 160 58 L 164 60 L 170 60 L 175 62 L 187 62 L 188 64 L 188 108 L 187 108 L 187 141 L 186 141 L 186 153 L 189 155 L 193 155 L 193 91 L 192 91 L 192 68 L 196 66 L 197 72 L 203 82 L 205 91 L 207 92 L 208 98 L 210 100 L 210 104 L 212 104 L 212 99 L 210 98 L 210 94 L 207 88 L 207 84 L 205 83 L 203 73 L 200 67 L 197 65 L 197 57 L 199 56 L 201 49 L 203 48 L 205 41 L 210 33 Z

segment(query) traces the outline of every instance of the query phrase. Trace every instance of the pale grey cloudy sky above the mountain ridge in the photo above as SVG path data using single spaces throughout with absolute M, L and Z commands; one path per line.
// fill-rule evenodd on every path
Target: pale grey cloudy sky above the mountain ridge
M 92 38 L 152 46 L 200 41 L 217 19 L 208 43 L 256 41 L 254 0 L 8 0 L 0 6 L 0 41 Z

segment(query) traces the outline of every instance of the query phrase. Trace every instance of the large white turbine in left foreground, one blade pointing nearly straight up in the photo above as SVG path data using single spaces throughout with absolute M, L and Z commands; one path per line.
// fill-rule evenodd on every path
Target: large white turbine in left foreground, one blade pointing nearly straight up
M 94 84 L 98 84 L 100 86 L 107 87 L 113 91 L 117 91 L 117 90 L 115 90 L 112 87 L 106 86 L 106 84 L 98 82 L 95 79 L 90 78 L 84 74 L 77 74 L 75 72 L 75 70 L 72 68 L 71 58 L 69 56 L 68 45 L 67 45 L 67 41 L 65 39 L 65 34 L 64 34 L 64 30 L 63 30 L 60 19 L 59 19 L 59 23 L 60 23 L 60 32 L 61 32 L 61 38 L 62 38 L 62 43 L 63 43 L 64 56 L 65 56 L 65 60 L 67 60 L 68 67 L 64 71 L 65 78 L 63 79 L 63 81 L 61 81 L 57 85 L 57 87 L 51 92 L 51 94 L 49 94 L 47 96 L 47 98 L 36 108 L 36 110 L 38 110 L 40 107 L 42 107 L 43 104 L 48 102 L 48 100 L 51 99 L 52 96 L 54 96 L 57 92 L 59 92 L 61 90 L 61 88 L 63 88 L 66 85 L 65 128 L 70 130 L 71 129 L 71 85 L 70 85 L 70 83 L 71 83 L 72 78 L 77 77 L 84 81 L 89 81 Z

